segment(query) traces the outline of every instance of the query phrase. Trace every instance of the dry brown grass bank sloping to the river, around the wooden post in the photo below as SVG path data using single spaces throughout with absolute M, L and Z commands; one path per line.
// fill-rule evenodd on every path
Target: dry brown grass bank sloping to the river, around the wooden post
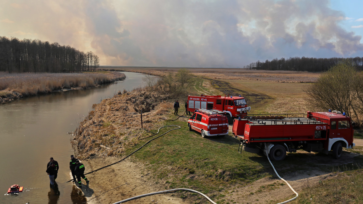
M 172 102 L 160 101 L 162 96 L 149 95 L 143 90 L 120 93 L 93 105 L 87 118 L 76 129 L 73 145 L 80 158 L 119 156 L 138 144 L 139 136 L 161 124 L 161 117 L 172 109 Z M 155 104 L 159 104 L 155 108 Z M 140 110 L 143 110 L 141 128 Z M 110 147 L 107 150 L 100 145 Z

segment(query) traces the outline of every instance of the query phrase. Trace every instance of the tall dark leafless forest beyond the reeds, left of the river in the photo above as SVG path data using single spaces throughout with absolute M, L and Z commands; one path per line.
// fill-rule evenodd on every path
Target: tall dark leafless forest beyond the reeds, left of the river
M 0 71 L 79 72 L 95 71 L 99 58 L 57 42 L 42 42 L 0 36 Z

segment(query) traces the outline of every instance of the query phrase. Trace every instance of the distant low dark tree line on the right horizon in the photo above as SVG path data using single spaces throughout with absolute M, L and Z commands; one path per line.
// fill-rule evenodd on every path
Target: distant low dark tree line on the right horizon
M 289 59 L 273 59 L 272 61 L 266 60 L 265 62 L 253 62 L 243 68 L 257 69 L 257 70 L 289 70 L 289 71 L 309 71 L 321 72 L 327 71 L 330 67 L 334 66 L 341 61 L 350 61 L 353 66 L 358 70 L 363 70 L 363 57 L 355 58 L 307 58 L 307 57 L 290 57 Z

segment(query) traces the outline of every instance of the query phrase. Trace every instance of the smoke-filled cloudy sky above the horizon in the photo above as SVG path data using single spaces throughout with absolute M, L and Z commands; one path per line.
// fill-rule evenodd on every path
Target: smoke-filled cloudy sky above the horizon
M 239 68 L 363 57 L 362 0 L 1 0 L 0 36 L 92 51 L 101 66 Z

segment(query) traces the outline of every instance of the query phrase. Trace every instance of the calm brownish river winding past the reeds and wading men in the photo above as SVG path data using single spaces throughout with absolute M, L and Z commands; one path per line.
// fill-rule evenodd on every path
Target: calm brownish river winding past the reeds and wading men
M 82 117 L 101 99 L 124 89 L 143 87 L 144 74 L 123 72 L 126 79 L 100 87 L 55 92 L 0 104 L 0 203 L 83 203 L 85 197 L 70 180 L 69 160 L 73 132 Z M 59 163 L 56 190 L 49 187 L 46 165 Z M 86 166 L 87 172 L 87 166 Z M 84 180 L 82 179 L 82 182 Z M 92 182 L 92 181 L 91 181 Z M 7 195 L 13 184 L 24 187 Z M 91 183 L 90 183 L 91 184 Z

